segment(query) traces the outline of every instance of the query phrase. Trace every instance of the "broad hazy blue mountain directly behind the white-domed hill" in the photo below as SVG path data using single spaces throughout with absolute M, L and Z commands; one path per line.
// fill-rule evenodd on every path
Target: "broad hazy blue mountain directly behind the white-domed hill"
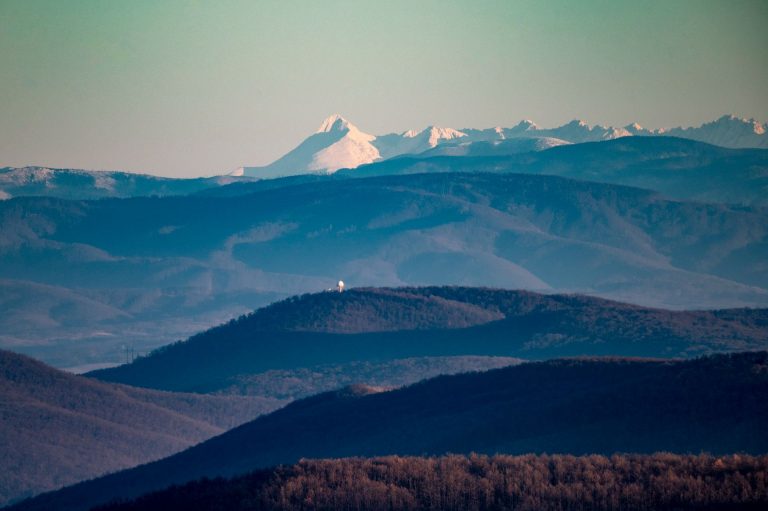
M 51 360 L 50 346 L 77 339 L 81 351 L 57 365 L 117 362 L 122 345 L 146 351 L 340 278 L 768 304 L 765 209 L 553 176 L 289 183 L 230 197 L 3 201 L 2 345 Z

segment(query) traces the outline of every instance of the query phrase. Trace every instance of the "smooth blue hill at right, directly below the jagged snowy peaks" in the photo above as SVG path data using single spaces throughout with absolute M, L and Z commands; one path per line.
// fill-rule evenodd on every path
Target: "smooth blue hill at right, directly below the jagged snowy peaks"
M 533 140 L 533 139 L 530 139 Z M 516 154 L 520 139 L 438 146 L 362 165 L 347 177 L 424 172 L 522 172 L 637 186 L 679 200 L 768 204 L 768 151 L 673 137 L 623 137 Z

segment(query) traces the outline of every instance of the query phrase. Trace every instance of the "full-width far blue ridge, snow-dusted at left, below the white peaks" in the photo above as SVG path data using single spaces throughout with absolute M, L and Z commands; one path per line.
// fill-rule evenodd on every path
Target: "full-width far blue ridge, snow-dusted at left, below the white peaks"
M 311 173 L 282 179 L 243 176 L 169 179 L 121 172 L 6 168 L 0 169 L 0 197 L 46 196 L 76 200 L 187 194 L 224 197 L 332 177 L 504 172 L 552 174 L 637 186 L 674 199 L 768 204 L 768 150 L 765 149 L 727 149 L 661 136 L 621 137 L 579 144 L 543 137 L 461 140 L 447 140 L 418 154 L 394 156 L 330 175 Z

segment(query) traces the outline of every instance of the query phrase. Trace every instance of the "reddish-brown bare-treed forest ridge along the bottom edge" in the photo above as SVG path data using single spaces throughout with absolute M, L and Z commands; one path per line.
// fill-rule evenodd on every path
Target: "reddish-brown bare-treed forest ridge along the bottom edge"
M 768 456 L 445 456 L 302 460 L 94 511 L 761 510 Z

